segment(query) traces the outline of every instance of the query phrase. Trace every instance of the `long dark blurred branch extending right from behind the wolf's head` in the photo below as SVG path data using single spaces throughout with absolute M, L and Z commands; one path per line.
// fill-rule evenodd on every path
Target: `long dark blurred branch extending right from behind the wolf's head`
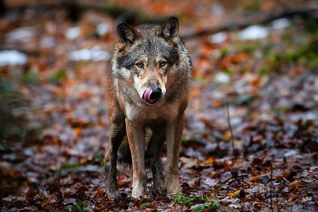
M 202 29 L 198 32 L 191 32 L 189 34 L 181 35 L 183 39 L 189 39 L 193 37 L 200 37 L 204 35 L 210 35 L 221 31 L 231 31 L 235 29 L 243 29 L 248 26 L 254 25 L 254 24 L 266 24 L 270 21 L 276 20 L 278 18 L 285 18 L 285 17 L 292 17 L 294 15 L 300 15 L 300 16 L 307 16 L 312 15 L 318 12 L 318 8 L 314 7 L 305 7 L 305 8 L 287 8 L 283 11 L 275 11 L 272 13 L 269 13 L 265 16 L 256 18 L 255 16 L 252 16 L 248 20 L 244 20 L 241 22 L 233 22 L 229 24 L 222 24 L 217 25 L 211 28 Z

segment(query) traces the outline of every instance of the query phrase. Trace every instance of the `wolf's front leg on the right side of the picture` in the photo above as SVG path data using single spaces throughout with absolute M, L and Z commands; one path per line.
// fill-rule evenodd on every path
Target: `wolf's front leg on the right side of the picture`
M 165 164 L 165 187 L 167 196 L 173 193 L 181 193 L 179 183 L 179 150 L 183 133 L 184 114 L 166 127 L 167 161 Z

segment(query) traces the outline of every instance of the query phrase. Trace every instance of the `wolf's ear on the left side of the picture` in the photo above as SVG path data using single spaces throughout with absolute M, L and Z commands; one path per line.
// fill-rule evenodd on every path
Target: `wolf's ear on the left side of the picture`
M 127 45 L 131 45 L 138 37 L 138 32 L 127 23 L 120 23 L 117 26 L 118 49 L 123 50 Z

